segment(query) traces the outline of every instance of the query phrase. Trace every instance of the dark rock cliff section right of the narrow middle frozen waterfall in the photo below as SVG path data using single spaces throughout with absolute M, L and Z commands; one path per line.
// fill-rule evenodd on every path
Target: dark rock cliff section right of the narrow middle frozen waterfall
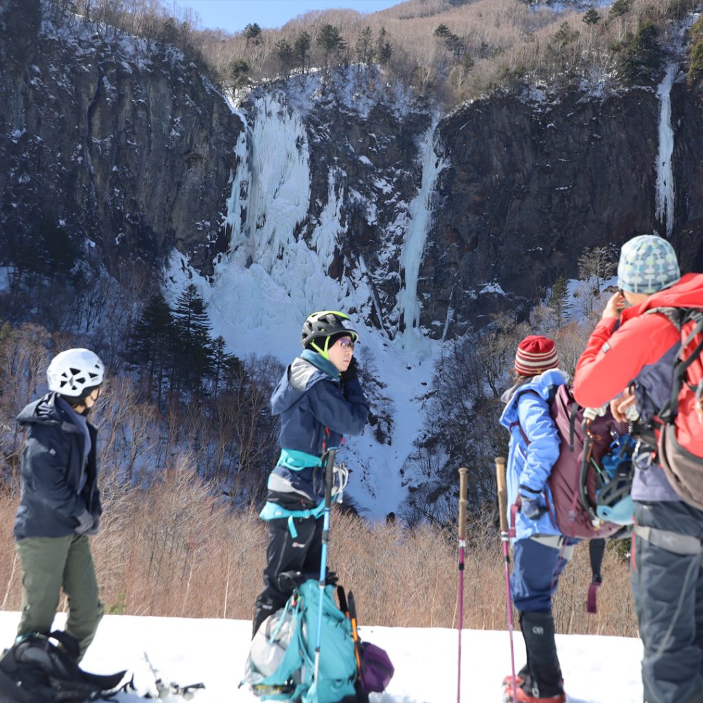
M 672 240 L 682 266 L 692 270 L 703 263 L 703 111 L 683 83 L 672 104 Z M 423 263 L 423 285 L 434 292 L 428 316 L 443 317 L 451 304 L 458 320 L 475 317 L 486 309 L 477 290 L 491 281 L 529 304 L 560 274 L 576 277 L 584 247 L 665 236 L 654 217 L 658 129 L 651 89 L 605 99 L 492 98 L 444 120 L 452 168 L 441 176 L 442 207 Z

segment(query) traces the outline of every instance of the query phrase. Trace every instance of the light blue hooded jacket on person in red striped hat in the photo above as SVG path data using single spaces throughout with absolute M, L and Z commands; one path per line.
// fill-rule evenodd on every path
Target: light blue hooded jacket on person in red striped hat
M 548 399 L 553 396 L 555 387 L 564 383 L 562 372 L 550 369 L 517 388 L 511 388 L 503 396 L 506 405 L 501 415 L 501 425 L 510 430 L 506 467 L 508 515 L 510 506 L 517 500 L 520 485 L 540 493 L 539 503 L 543 507 L 546 508 L 546 501 L 553 504 L 547 479 L 559 457 L 560 439 L 549 413 Z M 521 428 L 529 439 L 529 445 L 522 436 Z M 535 534 L 560 534 L 560 531 L 548 512 L 537 520 L 518 512 L 515 516 L 515 537 L 524 539 Z

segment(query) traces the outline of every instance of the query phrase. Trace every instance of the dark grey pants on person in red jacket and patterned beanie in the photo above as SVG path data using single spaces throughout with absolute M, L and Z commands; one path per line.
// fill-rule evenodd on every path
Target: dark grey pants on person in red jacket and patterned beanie
M 703 703 L 703 511 L 635 501 L 631 583 L 645 703 Z

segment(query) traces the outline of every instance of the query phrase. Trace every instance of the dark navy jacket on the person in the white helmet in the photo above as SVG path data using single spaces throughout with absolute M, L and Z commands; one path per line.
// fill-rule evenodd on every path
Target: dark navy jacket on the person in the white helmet
M 88 423 L 91 450 L 84 461 L 85 435 L 60 404 L 56 393 L 30 403 L 18 423 L 30 428 L 22 452 L 22 498 L 15 516 L 15 539 L 64 537 L 78 527 L 77 516 L 102 512 L 98 491 L 98 431 Z M 82 475 L 86 482 L 79 493 Z

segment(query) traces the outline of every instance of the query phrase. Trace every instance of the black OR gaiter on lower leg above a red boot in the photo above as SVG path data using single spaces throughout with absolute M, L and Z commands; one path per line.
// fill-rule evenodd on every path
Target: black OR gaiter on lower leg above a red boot
M 526 677 L 522 688 L 536 698 L 558 696 L 564 692 L 562 669 L 554 639 L 551 610 L 520 613 L 520 628 L 527 650 Z

